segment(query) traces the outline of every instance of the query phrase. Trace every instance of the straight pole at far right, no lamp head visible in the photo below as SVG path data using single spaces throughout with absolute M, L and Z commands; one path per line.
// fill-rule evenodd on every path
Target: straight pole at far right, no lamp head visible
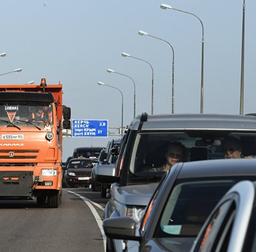
M 241 88 L 240 88 L 240 114 L 244 114 L 244 21 L 245 0 L 243 4 L 243 28 L 242 28 L 242 57 L 241 57 Z

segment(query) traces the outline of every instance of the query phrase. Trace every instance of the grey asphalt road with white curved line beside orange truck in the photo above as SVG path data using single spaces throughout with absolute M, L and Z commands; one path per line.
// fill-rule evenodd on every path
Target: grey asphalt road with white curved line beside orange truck
M 0 251 L 105 251 L 100 228 L 107 199 L 90 188 L 64 188 L 59 208 L 0 201 Z

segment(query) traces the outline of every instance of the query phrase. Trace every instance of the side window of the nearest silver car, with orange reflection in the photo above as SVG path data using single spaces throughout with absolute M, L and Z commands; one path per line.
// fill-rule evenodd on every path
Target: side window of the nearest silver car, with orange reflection
M 205 226 L 205 230 L 198 240 L 196 251 L 226 251 L 231 227 L 234 223 L 236 203 L 234 199 L 229 199 L 221 204 L 212 214 Z

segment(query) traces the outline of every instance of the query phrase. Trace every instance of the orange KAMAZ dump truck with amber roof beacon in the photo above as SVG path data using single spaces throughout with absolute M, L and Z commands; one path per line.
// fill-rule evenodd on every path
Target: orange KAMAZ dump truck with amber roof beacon
M 0 199 L 60 205 L 62 129 L 71 127 L 62 94 L 61 84 L 44 78 L 0 85 Z

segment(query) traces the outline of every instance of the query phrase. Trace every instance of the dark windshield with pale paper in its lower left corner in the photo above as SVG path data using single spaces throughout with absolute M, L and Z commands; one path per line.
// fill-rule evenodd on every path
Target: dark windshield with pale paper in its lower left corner
M 242 179 L 252 177 L 177 180 L 162 210 L 154 236 L 196 237 L 216 203 Z

